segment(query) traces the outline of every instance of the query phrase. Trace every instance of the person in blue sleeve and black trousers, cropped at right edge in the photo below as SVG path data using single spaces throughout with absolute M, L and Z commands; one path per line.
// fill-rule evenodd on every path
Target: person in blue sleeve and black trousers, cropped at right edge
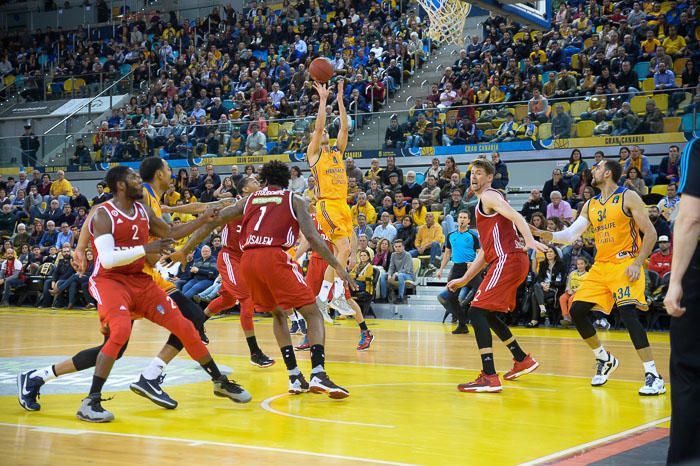
M 700 139 L 680 162 L 673 267 L 664 304 L 671 319 L 671 444 L 668 464 L 700 464 Z

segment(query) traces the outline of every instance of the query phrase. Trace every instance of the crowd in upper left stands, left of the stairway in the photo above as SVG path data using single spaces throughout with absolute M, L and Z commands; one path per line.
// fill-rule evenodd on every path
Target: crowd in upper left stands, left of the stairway
M 272 10 L 251 2 L 244 12 L 214 7 L 185 21 L 155 12 L 124 19 L 108 40 L 83 28 L 6 37 L 0 61 L 7 74 L 27 77 L 44 73 L 38 56 L 55 55 L 54 79 L 133 68 L 131 82 L 141 89 L 76 147 L 71 165 L 155 151 L 170 158 L 298 152 L 318 111 L 308 73 L 314 58 L 330 59 L 346 81 L 342 96 L 330 84 L 331 136 L 340 126 L 337 99 L 354 131 L 425 62 L 424 23 L 402 3 L 285 0 Z

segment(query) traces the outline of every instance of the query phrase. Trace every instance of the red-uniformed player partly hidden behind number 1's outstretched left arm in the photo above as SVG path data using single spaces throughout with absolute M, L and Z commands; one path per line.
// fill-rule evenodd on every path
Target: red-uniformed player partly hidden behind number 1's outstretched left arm
M 243 178 L 237 186 L 238 192 L 244 196 L 260 189 L 260 183 L 255 177 Z M 241 327 L 250 349 L 250 363 L 258 367 L 270 367 L 275 361 L 270 359 L 258 346 L 253 326 L 254 306 L 250 291 L 241 276 L 241 257 L 243 250 L 239 242 L 241 220 L 232 220 L 221 230 L 222 249 L 216 258 L 216 265 L 221 276 L 221 290 L 212 302 L 204 309 L 207 319 L 219 312 L 236 305 L 241 307 Z

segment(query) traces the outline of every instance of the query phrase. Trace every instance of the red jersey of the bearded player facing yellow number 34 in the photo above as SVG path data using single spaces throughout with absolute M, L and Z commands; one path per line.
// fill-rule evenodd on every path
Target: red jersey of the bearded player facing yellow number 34
M 503 195 L 495 189 L 492 191 Z M 479 231 L 484 258 L 489 264 L 507 254 L 523 253 L 525 245 L 520 240 L 513 222 L 498 212 L 486 215 L 481 209 L 481 201 L 476 204 L 476 229 Z

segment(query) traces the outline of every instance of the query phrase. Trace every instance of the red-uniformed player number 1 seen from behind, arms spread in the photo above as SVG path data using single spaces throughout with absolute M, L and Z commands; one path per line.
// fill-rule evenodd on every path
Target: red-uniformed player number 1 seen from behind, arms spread
M 299 394 L 311 391 L 327 393 L 331 398 L 345 398 L 349 392 L 333 383 L 325 372 L 325 329 L 321 312 L 316 305 L 316 296 L 286 250 L 294 245 L 301 230 L 311 247 L 345 281 L 349 282 L 350 277 L 344 265 L 338 262 L 316 232 L 306 202 L 287 189 L 289 167 L 278 161 L 268 162 L 260 171 L 260 178 L 265 189 L 222 210 L 216 221 L 195 232 L 187 244 L 170 257 L 175 261 L 184 260 L 187 253 L 206 238 L 209 232 L 242 216 L 241 272 L 248 284 L 255 309 L 271 312 L 274 316 L 273 328 L 287 366 L 289 392 Z M 297 367 L 289 335 L 287 315 L 293 308 L 304 316 L 308 325 L 312 367 L 310 382 L 306 381 Z

